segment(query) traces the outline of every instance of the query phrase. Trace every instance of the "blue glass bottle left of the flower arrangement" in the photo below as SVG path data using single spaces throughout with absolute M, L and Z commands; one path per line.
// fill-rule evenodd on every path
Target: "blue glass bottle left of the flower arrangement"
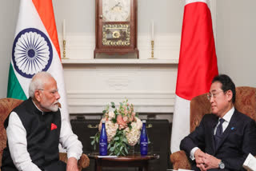
M 99 155 L 107 155 L 107 136 L 106 136 L 106 126 L 105 121 L 102 121 L 102 131 L 99 137 Z

